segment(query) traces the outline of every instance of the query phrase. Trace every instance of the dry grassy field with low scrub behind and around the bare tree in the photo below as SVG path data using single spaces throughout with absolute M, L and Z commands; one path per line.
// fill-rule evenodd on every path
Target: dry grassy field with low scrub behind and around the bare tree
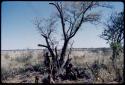
M 4 83 L 34 83 L 35 76 L 39 77 L 39 83 L 46 76 L 43 59 L 44 50 L 4 50 L 1 52 L 2 82 Z M 67 51 L 68 53 L 68 51 Z M 90 76 L 89 79 L 81 78 L 75 81 L 58 80 L 56 83 L 118 83 L 114 81 L 115 73 L 111 65 L 112 50 L 109 48 L 84 48 L 73 49 L 70 57 L 74 67 L 86 68 L 85 72 Z M 120 75 L 123 76 L 123 54 L 116 62 Z M 95 61 L 101 68 L 98 71 L 100 76 L 95 80 L 91 67 Z M 87 63 L 87 64 L 86 64 Z M 87 66 L 88 65 L 88 66 Z M 101 79 L 100 79 L 101 78 Z

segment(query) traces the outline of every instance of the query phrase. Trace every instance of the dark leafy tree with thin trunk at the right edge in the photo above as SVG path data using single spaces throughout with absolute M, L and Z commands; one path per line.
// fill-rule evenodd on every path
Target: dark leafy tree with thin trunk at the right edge
M 121 81 L 120 70 L 116 65 L 116 60 L 120 57 L 120 53 L 123 52 L 124 46 L 124 12 L 118 14 L 112 14 L 110 20 L 101 35 L 101 38 L 107 40 L 110 47 L 113 50 L 112 53 L 112 65 L 116 72 L 116 80 Z

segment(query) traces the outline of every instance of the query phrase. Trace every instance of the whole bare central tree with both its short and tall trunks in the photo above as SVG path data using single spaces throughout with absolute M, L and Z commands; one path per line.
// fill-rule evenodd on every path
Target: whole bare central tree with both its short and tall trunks
M 36 22 L 36 26 L 39 29 L 42 37 L 46 41 L 46 45 L 39 44 L 38 46 L 45 47 L 49 50 L 50 55 L 52 56 L 53 63 L 56 63 L 58 68 L 58 73 L 62 73 L 62 70 L 65 66 L 66 50 L 70 40 L 76 35 L 78 30 L 81 28 L 82 24 L 85 22 L 95 23 L 100 20 L 100 13 L 93 12 L 94 9 L 104 6 L 109 7 L 109 5 L 101 4 L 100 2 L 52 2 L 49 3 L 54 6 L 57 10 L 55 17 L 60 20 L 61 28 L 63 32 L 63 46 L 61 53 L 58 54 L 57 46 L 52 49 L 53 41 L 51 40 L 51 34 L 53 33 L 56 19 L 48 19 L 46 25 L 40 25 L 41 21 Z M 60 72 L 61 71 L 61 72 Z

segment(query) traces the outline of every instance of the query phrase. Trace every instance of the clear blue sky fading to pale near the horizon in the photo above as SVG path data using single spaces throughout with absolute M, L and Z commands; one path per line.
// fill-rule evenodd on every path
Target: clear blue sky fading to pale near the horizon
M 1 7 L 1 49 L 41 49 L 37 44 L 45 44 L 45 41 L 40 36 L 33 22 L 36 17 L 42 19 L 53 14 L 55 8 L 48 3 L 45 1 L 3 1 Z M 124 8 L 122 2 L 109 3 L 113 6 L 113 9 L 101 8 L 102 20 L 104 21 L 108 19 L 112 12 L 121 12 Z M 99 37 L 103 28 L 102 24 L 83 24 L 72 39 L 74 40 L 73 47 L 109 47 L 106 41 Z M 60 43 L 59 48 L 61 46 L 62 43 Z

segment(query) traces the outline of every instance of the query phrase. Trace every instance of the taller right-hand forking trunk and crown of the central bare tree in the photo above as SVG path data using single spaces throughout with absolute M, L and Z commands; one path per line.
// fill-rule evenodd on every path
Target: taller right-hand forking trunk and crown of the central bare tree
M 65 53 L 70 39 L 75 36 L 83 22 L 99 20 L 99 14 L 87 14 L 87 11 L 90 11 L 90 9 L 97 4 L 94 2 L 67 2 L 64 4 L 56 2 L 50 4 L 56 7 L 63 30 L 64 44 L 59 60 L 61 66 L 64 63 Z M 69 6 L 65 7 L 66 5 Z

